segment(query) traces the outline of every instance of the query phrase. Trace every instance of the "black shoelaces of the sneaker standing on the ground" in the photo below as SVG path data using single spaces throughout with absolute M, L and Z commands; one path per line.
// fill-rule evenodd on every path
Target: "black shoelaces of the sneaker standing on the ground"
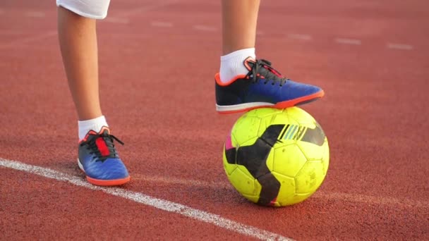
M 109 149 L 109 155 L 103 156 L 100 150 L 98 149 L 96 141 L 100 137 L 103 138 L 104 142 L 106 143 L 107 148 Z M 105 161 L 109 157 L 111 158 L 117 157 L 113 140 L 116 140 L 116 142 L 119 142 L 120 144 L 124 144 L 121 140 L 119 140 L 114 135 L 110 135 L 103 132 L 102 134 L 92 135 L 90 140 L 88 140 L 87 142 L 82 142 L 80 146 L 83 147 L 87 145 L 86 148 L 90 150 L 89 154 L 95 154 L 95 156 L 97 156 L 97 161 Z

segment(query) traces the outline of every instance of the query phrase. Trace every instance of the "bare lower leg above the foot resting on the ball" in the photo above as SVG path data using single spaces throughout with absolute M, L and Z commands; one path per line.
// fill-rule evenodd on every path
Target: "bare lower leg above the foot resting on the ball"
M 255 47 L 260 0 L 222 0 L 222 54 Z

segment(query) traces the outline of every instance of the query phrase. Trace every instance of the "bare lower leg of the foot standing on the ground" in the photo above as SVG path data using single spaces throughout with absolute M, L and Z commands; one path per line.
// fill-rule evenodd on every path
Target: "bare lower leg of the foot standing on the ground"
M 102 116 L 96 20 L 58 8 L 58 32 L 68 86 L 80 121 Z

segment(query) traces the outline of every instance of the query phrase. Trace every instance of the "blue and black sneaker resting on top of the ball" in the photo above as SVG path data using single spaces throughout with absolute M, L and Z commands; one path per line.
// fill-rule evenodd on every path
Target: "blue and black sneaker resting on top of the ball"
M 247 75 L 236 76 L 228 83 L 216 80 L 216 110 L 219 113 L 238 113 L 261 107 L 284 109 L 306 104 L 323 97 L 325 92 L 314 85 L 306 85 L 284 78 L 269 61 L 246 58 Z

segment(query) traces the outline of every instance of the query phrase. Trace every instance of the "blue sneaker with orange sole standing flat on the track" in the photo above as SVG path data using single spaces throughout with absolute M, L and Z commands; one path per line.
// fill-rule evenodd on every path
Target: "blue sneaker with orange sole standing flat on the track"
M 110 130 L 90 130 L 79 142 L 78 165 L 86 174 L 88 182 L 99 186 L 116 186 L 128 183 L 130 175 L 118 154 L 113 140 L 123 144 Z

